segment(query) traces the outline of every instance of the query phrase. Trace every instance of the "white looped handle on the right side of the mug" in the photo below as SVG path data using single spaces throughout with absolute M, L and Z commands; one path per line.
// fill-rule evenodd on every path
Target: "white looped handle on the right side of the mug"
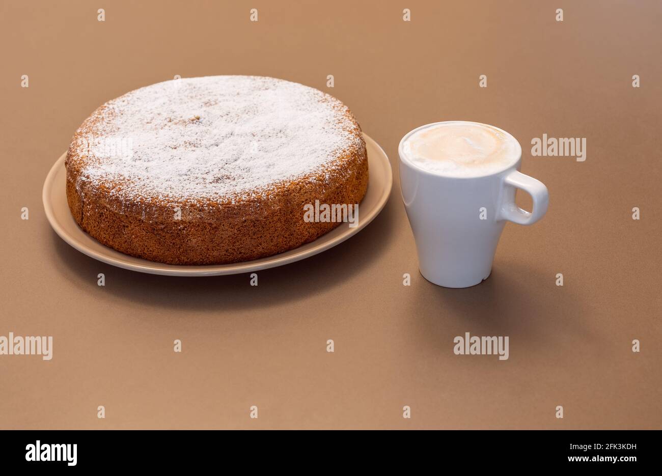
M 498 220 L 509 220 L 520 225 L 530 225 L 534 224 L 545 215 L 545 212 L 547 212 L 547 205 L 549 205 L 549 193 L 547 192 L 547 187 L 545 187 L 544 183 L 540 180 L 534 179 L 534 177 L 524 175 L 524 173 L 518 170 L 513 170 L 506 175 L 503 183 L 504 187 L 522 189 L 531 195 L 534 207 L 530 212 L 522 210 L 515 203 L 514 191 L 513 193 L 505 193 L 504 197 L 506 197 L 506 199 L 499 209 Z

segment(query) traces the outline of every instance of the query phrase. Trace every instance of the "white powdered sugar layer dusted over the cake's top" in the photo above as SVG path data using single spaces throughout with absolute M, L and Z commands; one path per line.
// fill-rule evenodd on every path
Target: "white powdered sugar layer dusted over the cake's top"
M 324 173 L 361 146 L 347 112 L 321 91 L 269 77 L 158 83 L 109 101 L 83 123 L 80 179 L 126 199 L 234 201 Z

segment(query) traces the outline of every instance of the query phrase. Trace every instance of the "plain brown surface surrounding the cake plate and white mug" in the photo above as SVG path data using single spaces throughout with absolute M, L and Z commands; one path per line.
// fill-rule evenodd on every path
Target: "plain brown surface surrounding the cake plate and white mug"
M 1 5 L 0 335 L 54 336 L 54 357 L 0 356 L 0 428 L 662 428 L 658 1 Z M 46 221 L 46 173 L 98 105 L 175 74 L 335 95 L 391 159 L 387 207 L 258 287 L 79 254 Z M 469 289 L 418 273 L 397 179 L 402 135 L 449 119 L 511 132 L 551 197 Z M 531 157 L 544 133 L 587 138 L 586 162 Z M 464 332 L 509 336 L 510 359 L 455 356 Z

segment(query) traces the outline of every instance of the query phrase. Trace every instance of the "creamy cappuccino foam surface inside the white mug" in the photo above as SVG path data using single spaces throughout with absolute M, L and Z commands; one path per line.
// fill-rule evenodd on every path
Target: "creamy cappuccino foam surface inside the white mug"
M 497 127 L 454 120 L 414 130 L 402 143 L 402 153 L 412 165 L 431 173 L 479 177 L 516 164 L 522 148 Z

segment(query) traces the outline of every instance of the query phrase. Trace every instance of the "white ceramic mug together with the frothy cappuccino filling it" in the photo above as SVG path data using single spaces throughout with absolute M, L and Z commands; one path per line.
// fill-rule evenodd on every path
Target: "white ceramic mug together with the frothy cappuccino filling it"
M 498 127 L 426 124 L 404 135 L 398 153 L 418 268 L 436 285 L 469 287 L 487 279 L 506 221 L 530 225 L 547 212 L 547 187 L 519 171 L 522 148 Z M 530 212 L 515 203 L 517 190 L 531 195 Z

